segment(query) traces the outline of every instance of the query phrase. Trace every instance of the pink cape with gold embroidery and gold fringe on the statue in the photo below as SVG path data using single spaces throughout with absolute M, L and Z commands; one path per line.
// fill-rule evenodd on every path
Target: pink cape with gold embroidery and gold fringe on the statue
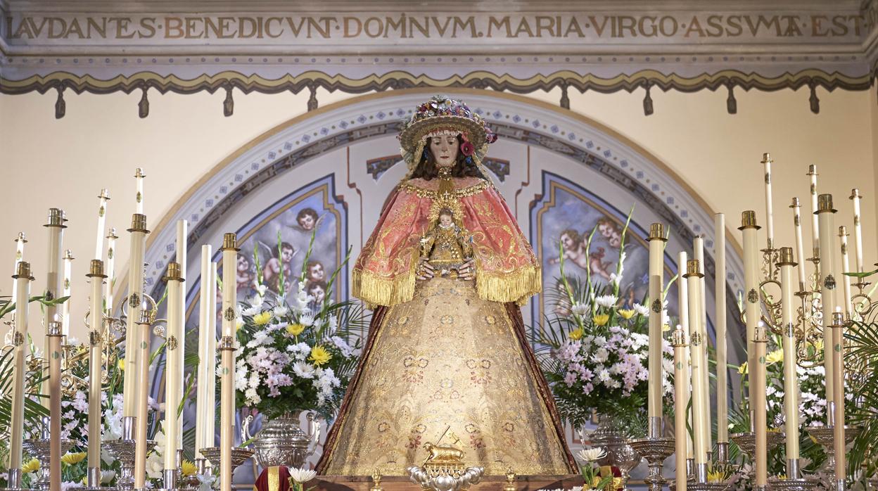
M 540 265 L 506 201 L 490 182 L 464 177 L 399 185 L 354 265 L 356 298 L 370 306 L 412 300 L 419 241 L 444 207 L 472 235 L 479 298 L 522 305 L 540 292 Z

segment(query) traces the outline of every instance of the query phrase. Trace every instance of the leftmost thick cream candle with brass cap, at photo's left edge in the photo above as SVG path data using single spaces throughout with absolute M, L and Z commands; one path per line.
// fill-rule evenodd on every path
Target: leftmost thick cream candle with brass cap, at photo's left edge
M 25 430 L 25 350 L 27 345 L 27 321 L 31 297 L 31 264 L 27 261 L 18 263 L 15 274 L 18 288 L 15 298 L 15 327 L 12 331 L 12 394 L 9 440 L 9 477 L 7 487 L 21 487 L 21 444 Z

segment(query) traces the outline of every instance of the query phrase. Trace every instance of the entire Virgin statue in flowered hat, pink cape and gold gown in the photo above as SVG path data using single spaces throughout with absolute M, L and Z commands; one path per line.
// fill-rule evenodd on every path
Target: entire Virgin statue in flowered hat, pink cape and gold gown
M 481 165 L 495 140 L 448 97 L 403 122 L 409 173 L 353 269 L 374 313 L 318 473 L 402 474 L 427 443 L 488 475 L 577 472 L 524 334 L 540 265 Z

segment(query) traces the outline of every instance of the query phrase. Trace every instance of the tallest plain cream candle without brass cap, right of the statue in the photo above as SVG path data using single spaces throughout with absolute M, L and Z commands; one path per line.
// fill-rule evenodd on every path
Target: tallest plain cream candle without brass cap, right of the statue
M 716 252 L 716 450 L 719 460 L 728 460 L 729 454 L 729 371 L 726 341 L 725 309 L 725 215 L 714 217 L 714 248 Z

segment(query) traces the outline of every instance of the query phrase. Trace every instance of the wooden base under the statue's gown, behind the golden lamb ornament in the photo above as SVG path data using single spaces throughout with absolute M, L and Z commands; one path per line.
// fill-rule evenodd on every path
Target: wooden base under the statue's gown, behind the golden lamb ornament
M 502 491 L 506 484 L 506 476 L 485 476 L 470 487 L 471 491 Z M 515 476 L 517 491 L 535 491 L 536 489 L 570 489 L 582 486 L 579 474 Z M 372 487 L 370 476 L 317 476 L 306 483 L 306 488 L 314 487 L 315 491 L 369 491 Z M 414 491 L 421 487 L 408 480 L 406 476 L 381 476 L 381 487 L 385 491 Z

